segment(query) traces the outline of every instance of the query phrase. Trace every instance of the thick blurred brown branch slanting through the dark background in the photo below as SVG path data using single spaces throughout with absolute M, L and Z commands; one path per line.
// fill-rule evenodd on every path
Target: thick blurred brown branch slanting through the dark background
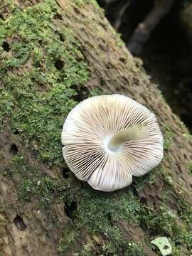
M 154 8 L 149 12 L 142 23 L 139 23 L 134 34 L 129 40 L 127 47 L 131 53 L 139 54 L 142 51 L 142 46 L 150 38 L 152 31 L 159 24 L 171 9 L 174 0 L 155 0 Z

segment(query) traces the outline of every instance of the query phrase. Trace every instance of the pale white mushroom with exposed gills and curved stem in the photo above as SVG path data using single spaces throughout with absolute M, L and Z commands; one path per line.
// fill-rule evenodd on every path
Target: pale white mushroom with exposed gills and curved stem
M 70 170 L 100 191 L 128 186 L 164 154 L 155 115 L 124 95 L 83 100 L 68 114 L 61 137 Z

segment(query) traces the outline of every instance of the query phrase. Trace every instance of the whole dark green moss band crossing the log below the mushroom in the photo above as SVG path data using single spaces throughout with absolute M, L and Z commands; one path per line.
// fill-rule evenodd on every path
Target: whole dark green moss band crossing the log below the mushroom
M 21 157 L 16 158 L 14 163 L 22 164 L 23 160 L 21 160 Z M 178 216 L 166 207 L 160 206 L 159 210 L 154 210 L 142 206 L 130 188 L 124 190 L 126 193 L 123 191 L 112 194 L 102 193 L 93 191 L 89 187 L 70 187 L 71 180 L 59 181 L 48 176 L 41 177 L 39 171 L 32 171 L 28 166 L 23 170 L 28 173 L 28 178 L 24 178 L 21 183 L 20 196 L 24 201 L 30 201 L 35 197 L 41 206 L 47 208 L 50 203 L 61 198 L 68 206 L 78 200 L 78 208 L 70 213 L 73 218 L 72 226 L 63 229 L 63 237 L 58 245 L 60 255 L 66 255 L 71 247 L 74 253 L 80 255 L 90 253 L 91 247 L 87 244 L 80 247 L 75 243 L 83 228 L 92 235 L 105 236 L 107 240 L 102 251 L 106 254 L 116 255 L 119 248 L 122 248 L 125 255 L 134 255 L 134 253 L 144 255 L 141 245 L 124 239 L 122 230 L 116 224 L 119 220 L 137 223 L 146 231 L 146 234 L 166 235 L 171 238 L 176 251 L 181 250 L 180 245 L 187 245 L 188 248 L 191 246 L 190 216 L 192 212 L 185 203 L 181 204 L 183 210 Z M 179 224 L 181 220 L 182 225 Z

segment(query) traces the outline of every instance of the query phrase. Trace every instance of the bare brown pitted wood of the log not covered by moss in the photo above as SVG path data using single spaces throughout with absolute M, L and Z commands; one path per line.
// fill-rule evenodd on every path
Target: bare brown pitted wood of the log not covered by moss
M 26 1 L 25 4 L 23 1 L 16 1 L 16 4 L 21 9 L 27 9 L 28 6 L 38 2 L 41 1 Z M 60 18 L 54 18 L 53 23 L 73 31 L 88 63 L 90 79 L 86 86 L 88 88 L 97 86 L 110 94 L 128 95 L 149 107 L 156 114 L 163 133 L 165 125 L 171 127 L 174 133 L 174 137 L 171 139 L 171 150 L 166 154 L 167 158 L 164 159 L 161 166 L 165 175 L 166 171 L 171 171 L 174 193 L 180 195 L 182 191 L 183 200 L 191 204 L 192 179 L 185 163 L 191 161 L 192 150 L 188 139 L 183 137 L 183 134 L 187 134 L 187 129 L 182 126 L 180 119 L 171 112 L 169 105 L 162 100 L 156 85 L 151 83 L 149 77 L 143 72 L 142 67 L 137 65 L 124 44 L 120 42 L 119 45 L 119 39 L 99 8 L 95 8 L 92 4 L 83 4 L 77 7 L 73 0 L 57 0 L 55 4 L 58 4 L 62 11 Z M 7 16 L 6 13 L 4 19 Z M 16 181 L 12 181 L 3 173 L 11 166 L 11 144 L 16 144 L 19 151 L 25 155 L 26 161 L 32 166 L 38 166 L 42 174 L 58 177 L 61 176 L 61 170 L 57 166 L 50 169 L 45 163 L 36 159 L 33 149 L 26 148 L 21 137 L 11 133 L 9 120 L 4 122 L 0 138 L 1 200 L 8 201 L 11 206 L 11 208 L 4 208 L 0 215 L 0 218 L 6 222 L 6 228 L 1 232 L 1 252 L 4 256 L 58 255 L 57 246 L 61 231 L 58 226 L 54 225 L 51 216 L 57 216 L 64 226 L 65 223 L 72 222 L 73 220 L 70 220 L 64 211 L 65 203 L 63 201 L 53 202 L 49 213 L 43 210 L 37 211 L 33 208 L 36 199 L 34 198 L 32 202 L 21 203 L 17 197 Z M 20 182 L 19 179 L 18 182 Z M 77 186 L 77 184 L 73 184 L 73 186 Z M 169 185 L 164 183 L 161 178 L 156 178 L 151 186 L 146 184 L 142 191 L 137 191 L 137 197 L 143 198 L 147 206 L 158 207 L 162 202 L 161 191 L 167 186 Z M 166 204 L 171 209 L 180 209 L 178 201 L 171 195 L 168 195 Z M 117 222 L 117 226 L 121 228 L 125 238 L 144 242 L 145 231 L 137 224 L 121 220 Z M 82 245 L 89 240 L 90 235 L 85 228 L 77 243 Z M 97 238 L 98 247 L 102 244 L 100 241 L 102 238 Z M 102 249 L 100 250 L 98 247 L 93 249 L 92 255 L 102 255 Z M 145 255 L 156 255 L 146 245 L 144 245 L 144 250 Z

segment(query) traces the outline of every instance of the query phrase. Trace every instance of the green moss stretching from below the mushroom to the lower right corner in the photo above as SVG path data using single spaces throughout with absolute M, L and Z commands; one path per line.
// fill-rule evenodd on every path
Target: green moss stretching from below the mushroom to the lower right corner
M 105 237 L 106 242 L 105 246 L 102 246 L 102 252 L 107 255 L 118 254 L 119 248 L 125 255 L 134 255 L 134 253 L 144 255 L 142 245 L 134 244 L 132 240 L 124 238 L 122 230 L 117 227 L 118 220 L 137 223 L 145 231 L 145 238 L 149 242 L 151 238 L 167 236 L 174 245 L 175 253 L 181 252 L 182 246 L 191 249 L 191 208 L 187 205 L 183 205 L 179 215 L 166 206 L 160 206 L 159 209 L 142 206 L 130 188 L 127 188 L 126 194 L 118 191 L 113 195 L 98 193 L 87 188 L 76 191 L 75 196 L 77 195 L 81 199 L 78 199 L 78 209 L 73 213 L 73 227 L 68 229 L 68 235 L 72 239 L 68 244 L 64 235 L 59 247 L 61 255 L 65 255 L 69 247 L 74 247 L 73 253 L 78 252 L 74 242 L 80 236 L 82 228 L 86 228 L 93 236 L 100 234 Z M 76 230 L 75 235 L 74 230 Z M 63 240 L 65 240 L 64 244 Z

